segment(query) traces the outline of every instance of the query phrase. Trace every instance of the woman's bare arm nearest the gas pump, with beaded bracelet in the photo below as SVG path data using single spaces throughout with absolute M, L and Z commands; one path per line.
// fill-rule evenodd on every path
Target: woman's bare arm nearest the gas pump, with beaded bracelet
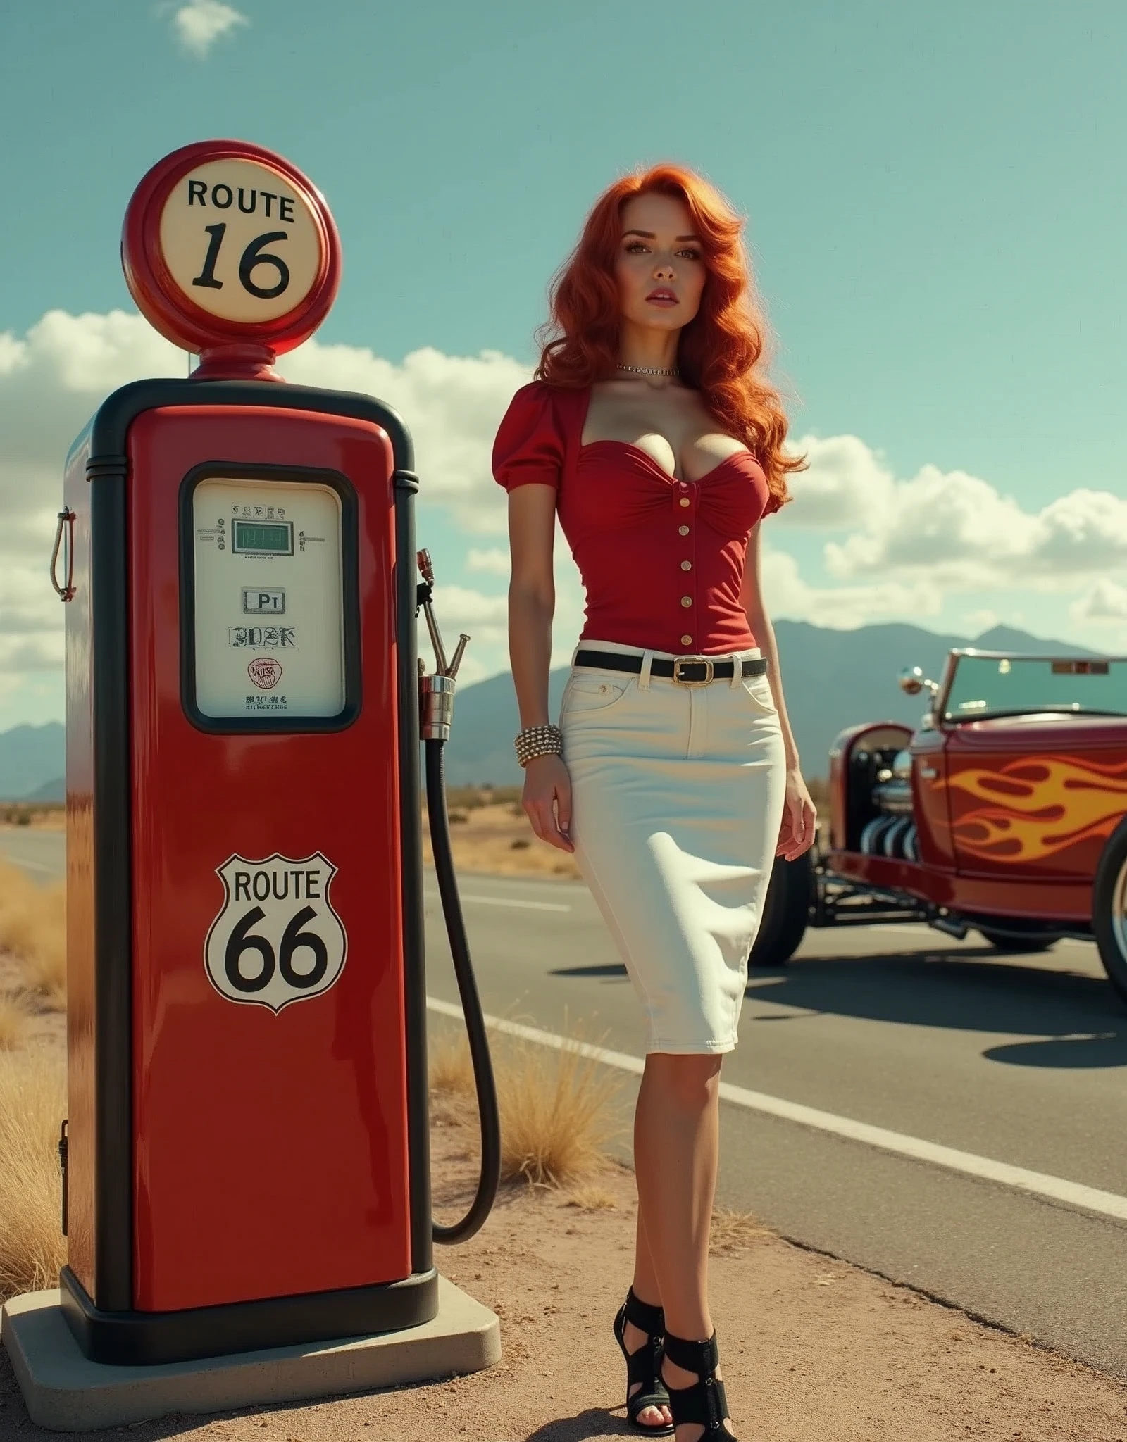
M 509 492 L 509 665 L 521 728 L 548 720 L 551 617 L 556 610 L 553 542 L 556 490 L 530 483 Z M 522 806 L 532 831 L 560 851 L 574 851 L 571 783 L 558 756 L 538 756 L 524 769 Z

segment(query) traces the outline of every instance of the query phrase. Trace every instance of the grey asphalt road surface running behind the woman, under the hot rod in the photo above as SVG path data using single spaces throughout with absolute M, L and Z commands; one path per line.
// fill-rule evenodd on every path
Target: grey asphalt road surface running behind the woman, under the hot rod
M 0 831 L 0 852 L 62 870 L 58 833 Z M 488 1012 L 582 1021 L 642 1056 L 583 885 L 466 875 L 462 898 Z M 427 930 L 429 992 L 456 1002 L 433 878 Z M 1127 1011 L 1094 946 L 1001 957 L 898 926 L 808 932 L 789 966 L 753 973 L 723 1079 L 1127 1198 L 1126 1070 Z M 1127 1380 L 1127 1220 L 729 1102 L 722 1129 L 722 1204 Z

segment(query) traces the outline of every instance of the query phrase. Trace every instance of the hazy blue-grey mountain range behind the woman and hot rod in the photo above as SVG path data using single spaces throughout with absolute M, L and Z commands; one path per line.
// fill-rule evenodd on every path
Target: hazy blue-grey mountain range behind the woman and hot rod
M 905 666 L 919 666 L 939 679 L 952 646 L 980 650 L 1046 652 L 1087 656 L 1091 652 L 1058 640 L 1040 640 L 1027 632 L 996 626 L 973 640 L 939 636 L 921 626 L 861 626 L 828 630 L 808 622 L 775 622 L 786 709 L 808 776 L 825 776 L 830 744 L 838 731 L 859 721 L 903 721 L 915 725 L 924 711 L 919 696 L 906 696 L 896 685 Z M 558 714 L 567 668 L 548 675 L 548 711 Z M 508 672 L 459 689 L 453 734 L 447 744 L 446 774 L 455 784 L 492 782 L 517 784 L 512 737 L 517 734 L 517 699 Z

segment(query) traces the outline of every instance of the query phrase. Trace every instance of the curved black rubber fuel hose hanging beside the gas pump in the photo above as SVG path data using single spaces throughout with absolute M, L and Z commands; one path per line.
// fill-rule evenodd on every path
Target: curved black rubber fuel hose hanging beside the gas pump
M 494 1063 L 489 1057 L 489 1038 L 485 1034 L 485 1018 L 478 996 L 478 982 L 469 959 L 466 926 L 462 919 L 462 903 L 457 897 L 457 878 L 450 851 L 450 818 L 446 812 L 446 776 L 443 766 L 443 741 L 424 741 L 427 777 L 427 820 L 430 825 L 430 848 L 434 854 L 434 871 L 439 878 L 439 897 L 446 920 L 446 934 L 450 939 L 450 956 L 455 962 L 457 994 L 462 998 L 462 1015 L 466 1019 L 469 1056 L 473 1063 L 473 1086 L 478 1092 L 478 1116 L 482 1128 L 482 1168 L 478 1191 L 469 1211 L 460 1221 L 443 1227 L 431 1217 L 431 1236 L 436 1242 L 466 1242 L 492 1210 L 496 1188 L 501 1182 L 501 1119 L 496 1110 L 496 1083 Z

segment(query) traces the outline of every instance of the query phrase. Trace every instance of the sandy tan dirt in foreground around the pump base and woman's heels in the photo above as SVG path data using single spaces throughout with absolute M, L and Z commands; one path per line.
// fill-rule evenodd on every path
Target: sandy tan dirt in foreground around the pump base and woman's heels
M 452 1216 L 470 1136 L 434 1129 L 436 1201 Z M 576 1201 L 583 1203 L 576 1206 Z M 599 1442 L 631 1433 L 610 1319 L 629 1280 L 633 1180 L 613 1167 L 576 1194 L 507 1190 L 485 1230 L 440 1253 L 501 1318 L 501 1363 L 403 1392 L 113 1435 L 232 1442 Z M 743 1442 L 1124 1442 L 1127 1387 L 908 1288 L 769 1233 L 713 1259 L 711 1296 Z M 87 1433 L 100 1438 L 111 1433 Z M 46 1438 L 0 1351 L 0 1438 Z

